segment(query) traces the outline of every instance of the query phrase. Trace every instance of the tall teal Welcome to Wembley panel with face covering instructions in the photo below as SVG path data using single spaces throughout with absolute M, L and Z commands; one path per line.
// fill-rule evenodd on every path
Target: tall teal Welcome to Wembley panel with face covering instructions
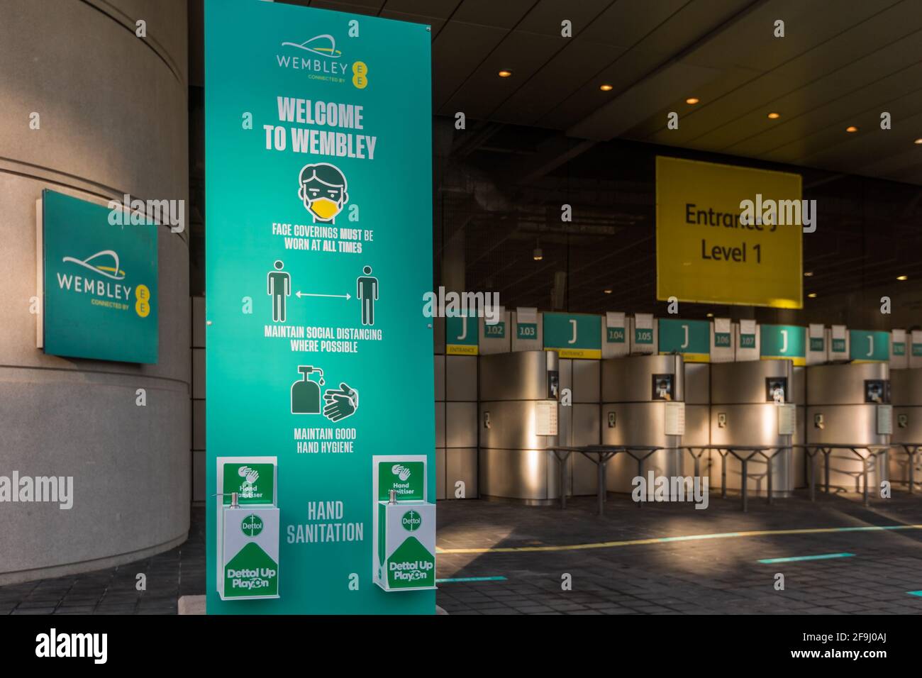
M 230 509 L 209 498 L 207 611 L 434 613 L 433 590 L 372 579 L 372 456 L 422 456 L 435 494 L 431 33 L 259 0 L 205 13 L 207 487 L 219 456 L 278 457 L 280 541 L 277 599 L 220 600 Z

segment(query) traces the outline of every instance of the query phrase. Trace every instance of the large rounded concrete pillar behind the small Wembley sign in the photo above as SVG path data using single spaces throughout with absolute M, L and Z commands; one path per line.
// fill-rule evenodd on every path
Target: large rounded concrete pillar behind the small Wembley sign
M 188 534 L 187 234 L 160 227 L 159 363 L 44 355 L 30 314 L 43 188 L 187 201 L 186 42 L 183 2 L 3 2 L 0 476 L 73 476 L 74 496 L 70 510 L 0 503 L 0 585 L 129 562 Z

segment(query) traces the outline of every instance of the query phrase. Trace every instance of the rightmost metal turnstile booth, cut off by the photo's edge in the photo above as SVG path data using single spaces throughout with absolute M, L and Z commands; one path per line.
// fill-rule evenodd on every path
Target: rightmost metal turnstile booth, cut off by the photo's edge
M 893 403 L 890 480 L 908 485 L 909 467 L 913 462 L 912 478 L 915 482 L 922 480 L 922 454 L 917 454 L 922 444 L 922 367 L 892 370 L 890 383 Z

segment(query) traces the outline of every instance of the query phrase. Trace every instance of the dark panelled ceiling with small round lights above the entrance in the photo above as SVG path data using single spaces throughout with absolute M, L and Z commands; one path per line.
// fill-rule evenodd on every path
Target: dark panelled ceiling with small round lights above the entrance
M 431 24 L 438 114 L 922 184 L 919 0 L 291 4 Z M 685 103 L 692 96 L 700 103 Z M 667 128 L 669 112 L 679 129 Z

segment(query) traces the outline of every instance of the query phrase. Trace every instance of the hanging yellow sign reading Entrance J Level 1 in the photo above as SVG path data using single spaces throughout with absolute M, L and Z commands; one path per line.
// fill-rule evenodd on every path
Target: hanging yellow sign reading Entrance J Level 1
M 656 299 L 803 307 L 800 175 L 656 158 Z

